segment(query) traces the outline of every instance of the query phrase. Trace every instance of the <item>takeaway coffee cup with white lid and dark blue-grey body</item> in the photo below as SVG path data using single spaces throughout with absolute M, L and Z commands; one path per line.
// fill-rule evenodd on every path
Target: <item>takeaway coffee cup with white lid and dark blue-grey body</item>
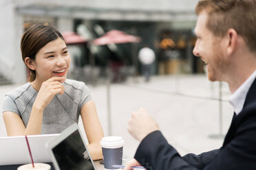
M 122 149 L 125 141 L 121 136 L 106 136 L 101 139 L 105 169 L 117 169 L 113 165 L 122 165 Z

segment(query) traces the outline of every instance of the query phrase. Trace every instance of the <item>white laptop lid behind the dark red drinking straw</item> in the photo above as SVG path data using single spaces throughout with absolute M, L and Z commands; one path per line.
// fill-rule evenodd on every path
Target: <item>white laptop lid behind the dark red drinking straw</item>
M 59 136 L 59 134 L 27 136 L 34 162 L 52 162 L 45 143 L 56 136 Z M 0 137 L 0 165 L 27 163 L 31 163 L 31 159 L 25 136 Z

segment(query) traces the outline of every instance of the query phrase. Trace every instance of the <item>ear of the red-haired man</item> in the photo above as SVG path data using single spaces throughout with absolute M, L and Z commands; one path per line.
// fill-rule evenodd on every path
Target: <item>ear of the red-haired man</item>
M 227 38 L 227 53 L 228 56 L 230 56 L 235 51 L 235 48 L 237 46 L 237 32 L 235 31 L 235 29 L 228 29 Z

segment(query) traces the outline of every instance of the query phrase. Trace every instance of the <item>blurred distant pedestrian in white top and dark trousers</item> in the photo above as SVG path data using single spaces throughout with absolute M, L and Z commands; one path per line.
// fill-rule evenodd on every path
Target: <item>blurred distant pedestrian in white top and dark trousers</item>
M 153 62 L 156 59 L 155 52 L 152 49 L 149 49 L 149 47 L 145 46 L 140 49 L 138 58 L 142 65 L 142 75 L 145 76 L 145 81 L 149 82 L 153 71 Z

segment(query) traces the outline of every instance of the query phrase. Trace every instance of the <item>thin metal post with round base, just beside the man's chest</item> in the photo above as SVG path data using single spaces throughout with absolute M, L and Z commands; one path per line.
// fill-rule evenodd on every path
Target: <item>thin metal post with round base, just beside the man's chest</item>
M 210 138 L 224 138 L 224 134 L 222 134 L 222 82 L 219 84 L 219 112 L 220 112 L 220 133 L 212 134 Z

